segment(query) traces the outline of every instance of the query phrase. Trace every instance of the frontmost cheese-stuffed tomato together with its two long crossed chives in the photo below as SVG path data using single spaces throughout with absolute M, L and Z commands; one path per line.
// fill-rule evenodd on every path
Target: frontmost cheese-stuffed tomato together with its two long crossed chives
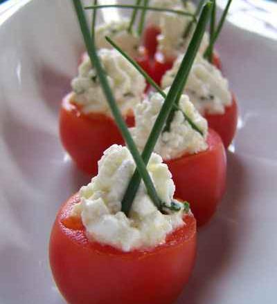
M 196 221 L 188 203 L 176 198 L 168 166 L 152 151 L 186 84 L 211 3 L 204 6 L 178 77 L 139 153 L 115 90 L 125 77 L 114 70 L 115 64 L 111 70 L 105 65 L 105 55 L 96 50 L 80 0 L 72 1 L 96 72 L 91 75 L 88 62 L 84 78 L 97 75 L 102 88 L 97 97 L 105 96 L 127 146 L 109 146 L 98 162 L 98 174 L 58 211 L 49 246 L 53 276 L 70 304 L 170 304 L 188 281 L 195 263 Z M 113 56 L 111 60 L 114 62 Z M 114 73 L 118 82 L 111 77 Z M 87 99 L 80 99 L 80 104 L 93 107 Z M 206 126 L 204 120 L 202 124 Z

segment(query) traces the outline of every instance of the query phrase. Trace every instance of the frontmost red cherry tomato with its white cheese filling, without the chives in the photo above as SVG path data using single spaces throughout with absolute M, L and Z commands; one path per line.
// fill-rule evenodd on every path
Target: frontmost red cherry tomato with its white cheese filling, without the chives
M 170 304 L 188 281 L 195 263 L 195 218 L 181 210 L 161 213 L 143 189 L 125 216 L 120 198 L 131 168 L 127 148 L 111 146 L 96 178 L 57 213 L 49 258 L 69 304 Z M 159 155 L 152 156 L 149 168 L 161 198 L 172 200 L 170 173 Z

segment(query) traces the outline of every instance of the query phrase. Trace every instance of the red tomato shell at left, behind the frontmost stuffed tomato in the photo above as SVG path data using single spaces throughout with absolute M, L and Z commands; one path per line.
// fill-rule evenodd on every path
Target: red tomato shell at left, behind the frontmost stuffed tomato
M 125 120 L 128 126 L 134 126 L 133 115 Z M 111 144 L 124 144 L 111 117 L 102 113 L 80 113 L 69 95 L 64 97 L 60 109 L 60 138 L 77 166 L 89 175 L 96 175 L 98 160 Z

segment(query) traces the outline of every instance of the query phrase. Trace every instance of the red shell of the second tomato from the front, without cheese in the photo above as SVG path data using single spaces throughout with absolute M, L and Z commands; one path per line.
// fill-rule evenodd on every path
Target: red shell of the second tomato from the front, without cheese
M 226 186 L 226 153 L 222 140 L 208 130 L 208 149 L 166 161 L 175 182 L 175 196 L 190 202 L 197 225 L 211 219 Z

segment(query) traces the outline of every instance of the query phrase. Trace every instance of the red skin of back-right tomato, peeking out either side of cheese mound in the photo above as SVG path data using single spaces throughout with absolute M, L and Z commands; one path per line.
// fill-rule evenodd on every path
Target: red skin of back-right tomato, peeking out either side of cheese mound
M 154 57 L 154 64 L 152 68 L 152 77 L 157 82 L 161 84 L 161 79 L 165 75 L 167 70 L 170 70 L 174 64 L 175 58 L 165 58 L 162 53 L 157 52 Z M 222 64 L 219 55 L 213 54 L 213 65 L 221 70 Z

